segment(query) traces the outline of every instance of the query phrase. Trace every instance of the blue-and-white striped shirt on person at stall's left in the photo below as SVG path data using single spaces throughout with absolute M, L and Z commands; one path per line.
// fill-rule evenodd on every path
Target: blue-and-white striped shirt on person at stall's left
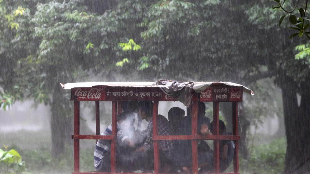
M 110 124 L 101 135 L 112 135 L 112 124 Z M 117 128 L 117 139 L 122 142 L 128 138 L 128 136 L 124 135 L 122 130 Z M 98 140 L 95 152 L 94 152 L 94 163 L 96 171 L 99 171 L 102 164 L 103 159 L 109 154 L 111 148 L 111 140 Z

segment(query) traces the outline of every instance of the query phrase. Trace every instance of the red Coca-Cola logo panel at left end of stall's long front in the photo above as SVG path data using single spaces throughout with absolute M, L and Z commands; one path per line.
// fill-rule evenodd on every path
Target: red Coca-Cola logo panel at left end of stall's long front
M 102 100 L 104 99 L 104 89 L 100 87 L 78 88 L 73 91 L 75 100 Z

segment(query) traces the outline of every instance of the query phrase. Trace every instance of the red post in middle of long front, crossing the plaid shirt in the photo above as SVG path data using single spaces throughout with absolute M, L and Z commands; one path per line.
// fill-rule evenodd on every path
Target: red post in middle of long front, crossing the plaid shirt
M 157 136 L 157 115 L 158 115 L 158 101 L 154 101 L 153 103 L 153 137 Z M 154 173 L 159 173 L 159 149 L 158 149 L 158 141 L 153 140 L 153 148 L 154 148 Z

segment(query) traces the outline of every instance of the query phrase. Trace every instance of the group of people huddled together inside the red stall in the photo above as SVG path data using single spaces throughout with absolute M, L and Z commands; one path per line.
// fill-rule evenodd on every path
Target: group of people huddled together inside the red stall
M 131 109 L 130 109 L 131 108 Z M 134 108 L 134 109 L 132 109 Z M 146 120 L 145 130 L 136 129 L 135 112 L 138 119 Z M 197 134 L 212 135 L 213 121 L 205 117 L 206 107 L 198 102 Z M 127 107 L 117 115 L 116 141 L 116 172 L 133 172 L 140 170 L 144 173 L 153 173 L 153 102 L 141 101 L 135 107 Z M 168 119 L 157 115 L 157 135 L 191 135 L 191 115 L 184 116 L 185 111 L 173 107 L 168 111 Z M 110 124 L 101 135 L 111 135 Z M 219 134 L 232 135 L 226 132 L 226 126 L 219 120 Z M 198 140 L 198 167 L 200 173 L 213 172 L 213 150 L 206 141 Z M 98 140 L 95 146 L 94 163 L 98 172 L 111 171 L 111 140 Z M 191 140 L 158 140 L 160 173 L 184 173 L 192 171 L 192 144 Z M 231 163 L 234 155 L 234 142 L 219 141 L 219 167 L 224 172 Z

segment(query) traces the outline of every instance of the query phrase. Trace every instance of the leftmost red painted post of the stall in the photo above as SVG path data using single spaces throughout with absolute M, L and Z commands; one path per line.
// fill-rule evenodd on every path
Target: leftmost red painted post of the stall
M 74 101 L 74 135 L 80 134 L 80 102 Z M 74 139 L 74 172 L 80 172 L 80 140 Z

